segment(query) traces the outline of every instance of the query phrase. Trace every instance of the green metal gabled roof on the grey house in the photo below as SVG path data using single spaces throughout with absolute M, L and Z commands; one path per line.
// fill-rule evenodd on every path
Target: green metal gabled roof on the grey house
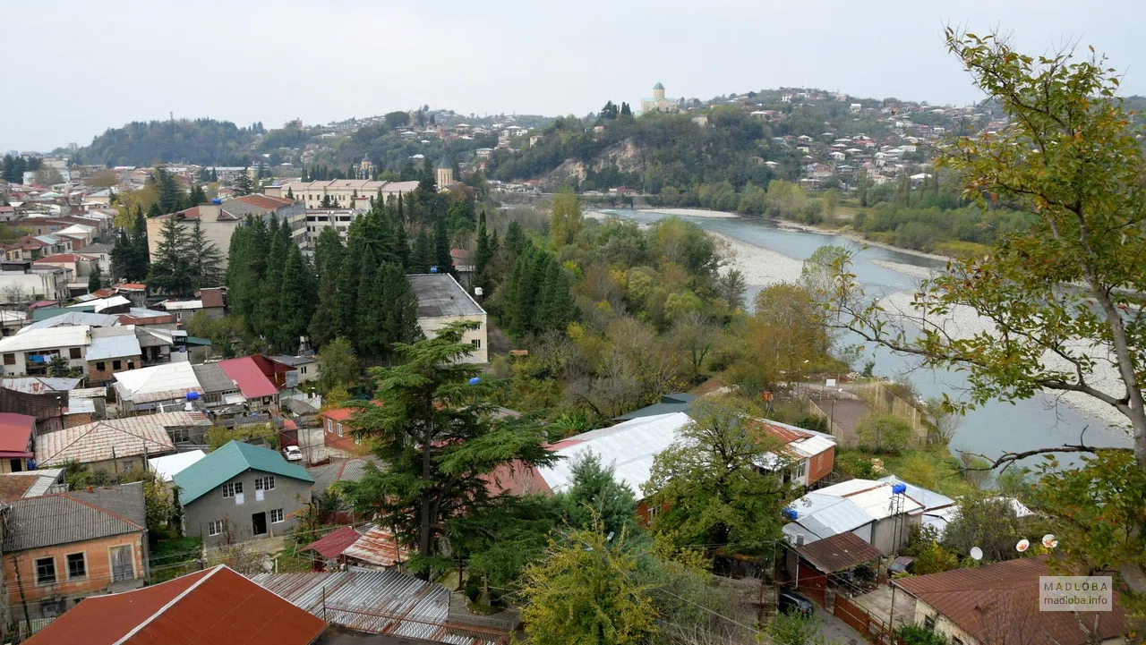
M 314 482 L 306 469 L 288 462 L 276 450 L 230 441 L 175 474 L 180 501 L 189 504 L 249 470 Z

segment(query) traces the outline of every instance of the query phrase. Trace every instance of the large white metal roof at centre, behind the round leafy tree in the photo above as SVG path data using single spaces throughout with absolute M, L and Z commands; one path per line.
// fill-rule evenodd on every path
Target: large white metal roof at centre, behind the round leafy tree
M 691 422 L 689 415 L 675 412 L 578 434 L 557 445 L 556 453 L 563 459 L 552 466 L 537 469 L 537 472 L 554 493 L 565 490 L 573 482 L 573 463 L 578 457 L 592 453 L 601 458 L 603 466 L 612 466 L 617 480 L 631 488 L 641 500 L 653 457 L 676 441 L 680 430 Z

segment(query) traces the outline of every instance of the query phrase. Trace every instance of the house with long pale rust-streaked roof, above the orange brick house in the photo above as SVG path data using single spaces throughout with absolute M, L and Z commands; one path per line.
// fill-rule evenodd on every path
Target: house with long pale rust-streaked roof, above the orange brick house
M 175 451 L 175 440 L 205 428 L 199 412 L 164 412 L 104 419 L 48 432 L 36 438 L 39 466 L 76 462 L 92 470 L 120 474 L 147 465 L 147 459 Z

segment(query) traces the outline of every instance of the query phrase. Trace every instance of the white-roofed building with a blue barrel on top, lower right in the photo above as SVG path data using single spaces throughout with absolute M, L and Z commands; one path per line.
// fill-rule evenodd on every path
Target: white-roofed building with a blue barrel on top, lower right
M 795 546 L 840 533 L 854 533 L 884 554 L 906 543 L 918 526 L 923 504 L 887 481 L 851 479 L 813 490 L 788 506 L 794 513 L 784 525 L 784 537 Z

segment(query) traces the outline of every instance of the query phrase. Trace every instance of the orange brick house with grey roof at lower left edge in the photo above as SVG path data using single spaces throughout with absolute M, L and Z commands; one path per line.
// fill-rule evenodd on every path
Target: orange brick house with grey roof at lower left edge
M 53 618 L 148 580 L 143 483 L 25 497 L 3 510 L 8 603 Z M 49 640 L 45 640 L 48 643 Z

